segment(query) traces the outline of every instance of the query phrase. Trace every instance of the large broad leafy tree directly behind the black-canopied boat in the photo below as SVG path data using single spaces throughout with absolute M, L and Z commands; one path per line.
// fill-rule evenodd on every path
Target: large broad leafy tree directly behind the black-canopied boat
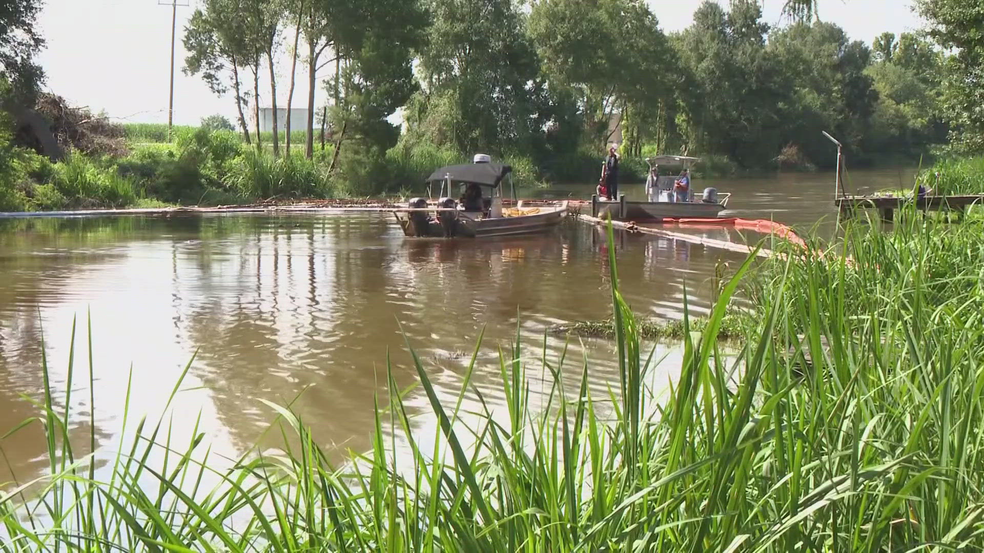
M 543 83 L 514 0 L 431 0 L 422 92 L 406 111 L 414 139 L 459 152 L 522 151 L 543 122 Z

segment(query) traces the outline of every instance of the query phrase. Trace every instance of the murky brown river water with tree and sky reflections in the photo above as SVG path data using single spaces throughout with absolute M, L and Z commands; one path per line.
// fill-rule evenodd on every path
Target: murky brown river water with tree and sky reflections
M 899 188 L 912 173 L 853 171 L 851 182 L 858 191 Z M 834 216 L 829 173 L 695 185 L 734 194 L 725 216 L 798 228 L 830 227 Z M 643 195 L 641 185 L 622 188 Z M 539 194 L 586 198 L 592 189 Z M 615 242 L 623 292 L 651 318 L 680 318 L 685 293 L 690 312 L 706 314 L 715 266 L 743 260 L 654 236 L 617 233 Z M 555 360 L 567 338 L 545 333 L 550 326 L 610 315 L 607 255 L 604 233 L 573 220 L 545 235 L 477 241 L 405 239 L 384 214 L 0 220 L 0 436 L 40 414 L 46 360 L 55 409 L 68 409 L 78 451 L 91 435 L 113 450 L 128 402 L 131 427 L 145 413 L 155 418 L 194 355 L 168 411 L 173 428 L 198 428 L 216 453 L 234 456 L 272 440 L 265 429 L 274 411 L 260 399 L 290 403 L 340 459 L 371 448 L 388 355 L 401 389 L 417 382 L 407 342 L 438 394 L 453 400 L 484 330 L 472 384 L 501 406 L 497 348 L 509 347 L 518 326 L 531 362 L 544 351 Z M 618 386 L 612 343 L 573 338 L 568 347 L 562 372 L 572 386 L 584 357 L 598 395 Z M 658 345 L 656 358 L 652 379 L 665 383 L 679 352 Z M 536 378 L 540 370 L 529 367 Z M 406 404 L 419 428 L 433 425 L 419 387 Z M 37 423 L 0 448 L 0 484 L 34 477 L 47 462 Z

